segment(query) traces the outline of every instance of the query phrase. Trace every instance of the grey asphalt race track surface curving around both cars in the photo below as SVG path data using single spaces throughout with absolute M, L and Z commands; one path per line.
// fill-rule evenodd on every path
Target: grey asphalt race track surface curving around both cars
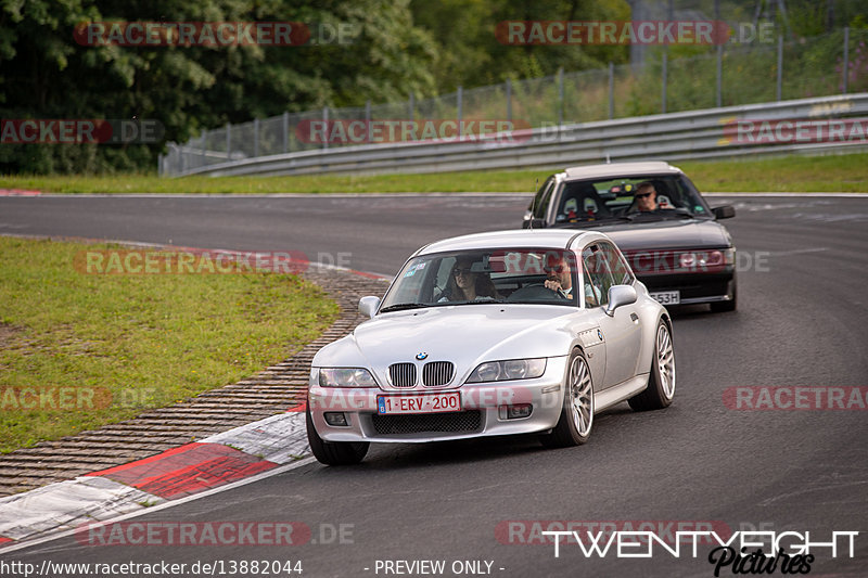
M 344 265 L 391 274 L 426 242 L 516 226 L 527 198 L 9 197 L 0 198 L 0 232 L 348 253 Z M 374 446 L 358 466 L 307 463 L 136 518 L 301 522 L 312 534 L 299 545 L 100 547 L 68 537 L 3 558 L 292 560 L 303 577 L 395 576 L 376 564 L 398 560 L 446 561 L 443 576 L 456 575 L 454 561 L 488 561 L 503 577 L 713 576 L 709 545 L 695 558 L 658 548 L 651 558 L 618 560 L 562 544 L 556 557 L 550 543 L 503 543 L 510 535 L 497 531 L 509 521 L 685 521 L 808 530 L 814 542 L 860 531 L 855 557 L 820 548 L 810 575 L 868 575 L 868 412 L 739 411 L 723 401 L 736 386 L 868 386 L 868 196 L 710 201 L 737 207 L 726 226 L 741 255 L 739 310 L 676 314 L 668 409 L 635 413 L 622 403 L 572 449 L 544 450 L 533 437 Z M 339 543 L 331 529 L 342 524 Z

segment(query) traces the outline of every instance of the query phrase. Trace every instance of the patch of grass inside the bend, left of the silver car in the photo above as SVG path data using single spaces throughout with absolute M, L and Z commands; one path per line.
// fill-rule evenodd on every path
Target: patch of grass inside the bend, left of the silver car
M 337 305 L 289 274 L 85 274 L 79 245 L 0 236 L 0 452 L 234 383 Z

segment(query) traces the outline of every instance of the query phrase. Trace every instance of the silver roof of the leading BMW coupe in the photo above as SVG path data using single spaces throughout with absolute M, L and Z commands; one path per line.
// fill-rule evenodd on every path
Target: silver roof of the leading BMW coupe
M 597 231 L 576 229 L 519 229 L 510 231 L 492 231 L 474 233 L 435 241 L 417 252 L 417 255 L 441 253 L 445 251 L 467 251 L 487 248 L 566 248 L 571 240 L 584 242 L 589 236 L 602 239 L 605 235 Z

